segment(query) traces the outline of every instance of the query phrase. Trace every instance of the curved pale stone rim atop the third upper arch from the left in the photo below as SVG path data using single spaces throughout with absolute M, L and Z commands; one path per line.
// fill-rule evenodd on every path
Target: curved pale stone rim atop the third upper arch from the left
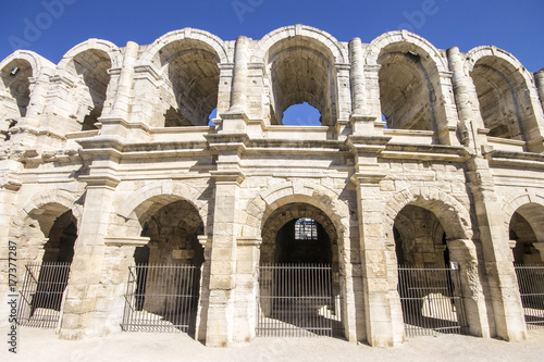
M 206 30 L 186 27 L 180 30 L 173 30 L 166 33 L 165 35 L 154 40 L 151 43 L 151 46 L 149 46 L 149 48 L 146 50 L 146 52 L 141 55 L 139 64 L 140 65 L 151 64 L 153 62 L 153 59 L 156 59 L 157 55 L 160 53 L 161 49 L 166 47 L 169 43 L 178 40 L 195 40 L 203 42 L 215 51 L 215 54 L 219 58 L 220 63 L 232 62 L 232 59 L 228 57 L 228 53 L 224 46 L 224 41 L 220 37 L 211 33 L 208 33 Z

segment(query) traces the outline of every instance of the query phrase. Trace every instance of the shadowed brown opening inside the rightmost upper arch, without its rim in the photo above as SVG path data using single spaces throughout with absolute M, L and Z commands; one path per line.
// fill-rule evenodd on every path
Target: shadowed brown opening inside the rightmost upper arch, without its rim
M 480 113 L 492 137 L 528 140 L 537 132 L 530 93 L 523 76 L 498 57 L 483 57 L 470 73 Z

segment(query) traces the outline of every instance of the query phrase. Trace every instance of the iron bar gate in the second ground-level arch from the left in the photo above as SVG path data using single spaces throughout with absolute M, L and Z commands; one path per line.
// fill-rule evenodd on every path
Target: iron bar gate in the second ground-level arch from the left
M 121 328 L 194 334 L 199 283 L 195 265 L 129 266 Z

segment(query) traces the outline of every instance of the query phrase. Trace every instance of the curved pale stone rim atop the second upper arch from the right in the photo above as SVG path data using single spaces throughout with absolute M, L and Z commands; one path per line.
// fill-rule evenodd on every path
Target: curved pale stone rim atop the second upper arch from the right
M 372 40 L 367 47 L 366 64 L 378 65 L 382 51 L 393 45 L 406 45 L 416 48 L 432 61 L 438 72 L 448 72 L 446 60 L 438 49 L 423 37 L 407 30 L 388 32 Z

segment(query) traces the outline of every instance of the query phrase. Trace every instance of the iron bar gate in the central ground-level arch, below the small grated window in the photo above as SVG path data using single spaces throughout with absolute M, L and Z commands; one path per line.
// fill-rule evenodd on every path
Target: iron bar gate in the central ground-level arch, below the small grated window
M 257 336 L 334 336 L 341 329 L 339 297 L 330 265 L 259 266 Z

